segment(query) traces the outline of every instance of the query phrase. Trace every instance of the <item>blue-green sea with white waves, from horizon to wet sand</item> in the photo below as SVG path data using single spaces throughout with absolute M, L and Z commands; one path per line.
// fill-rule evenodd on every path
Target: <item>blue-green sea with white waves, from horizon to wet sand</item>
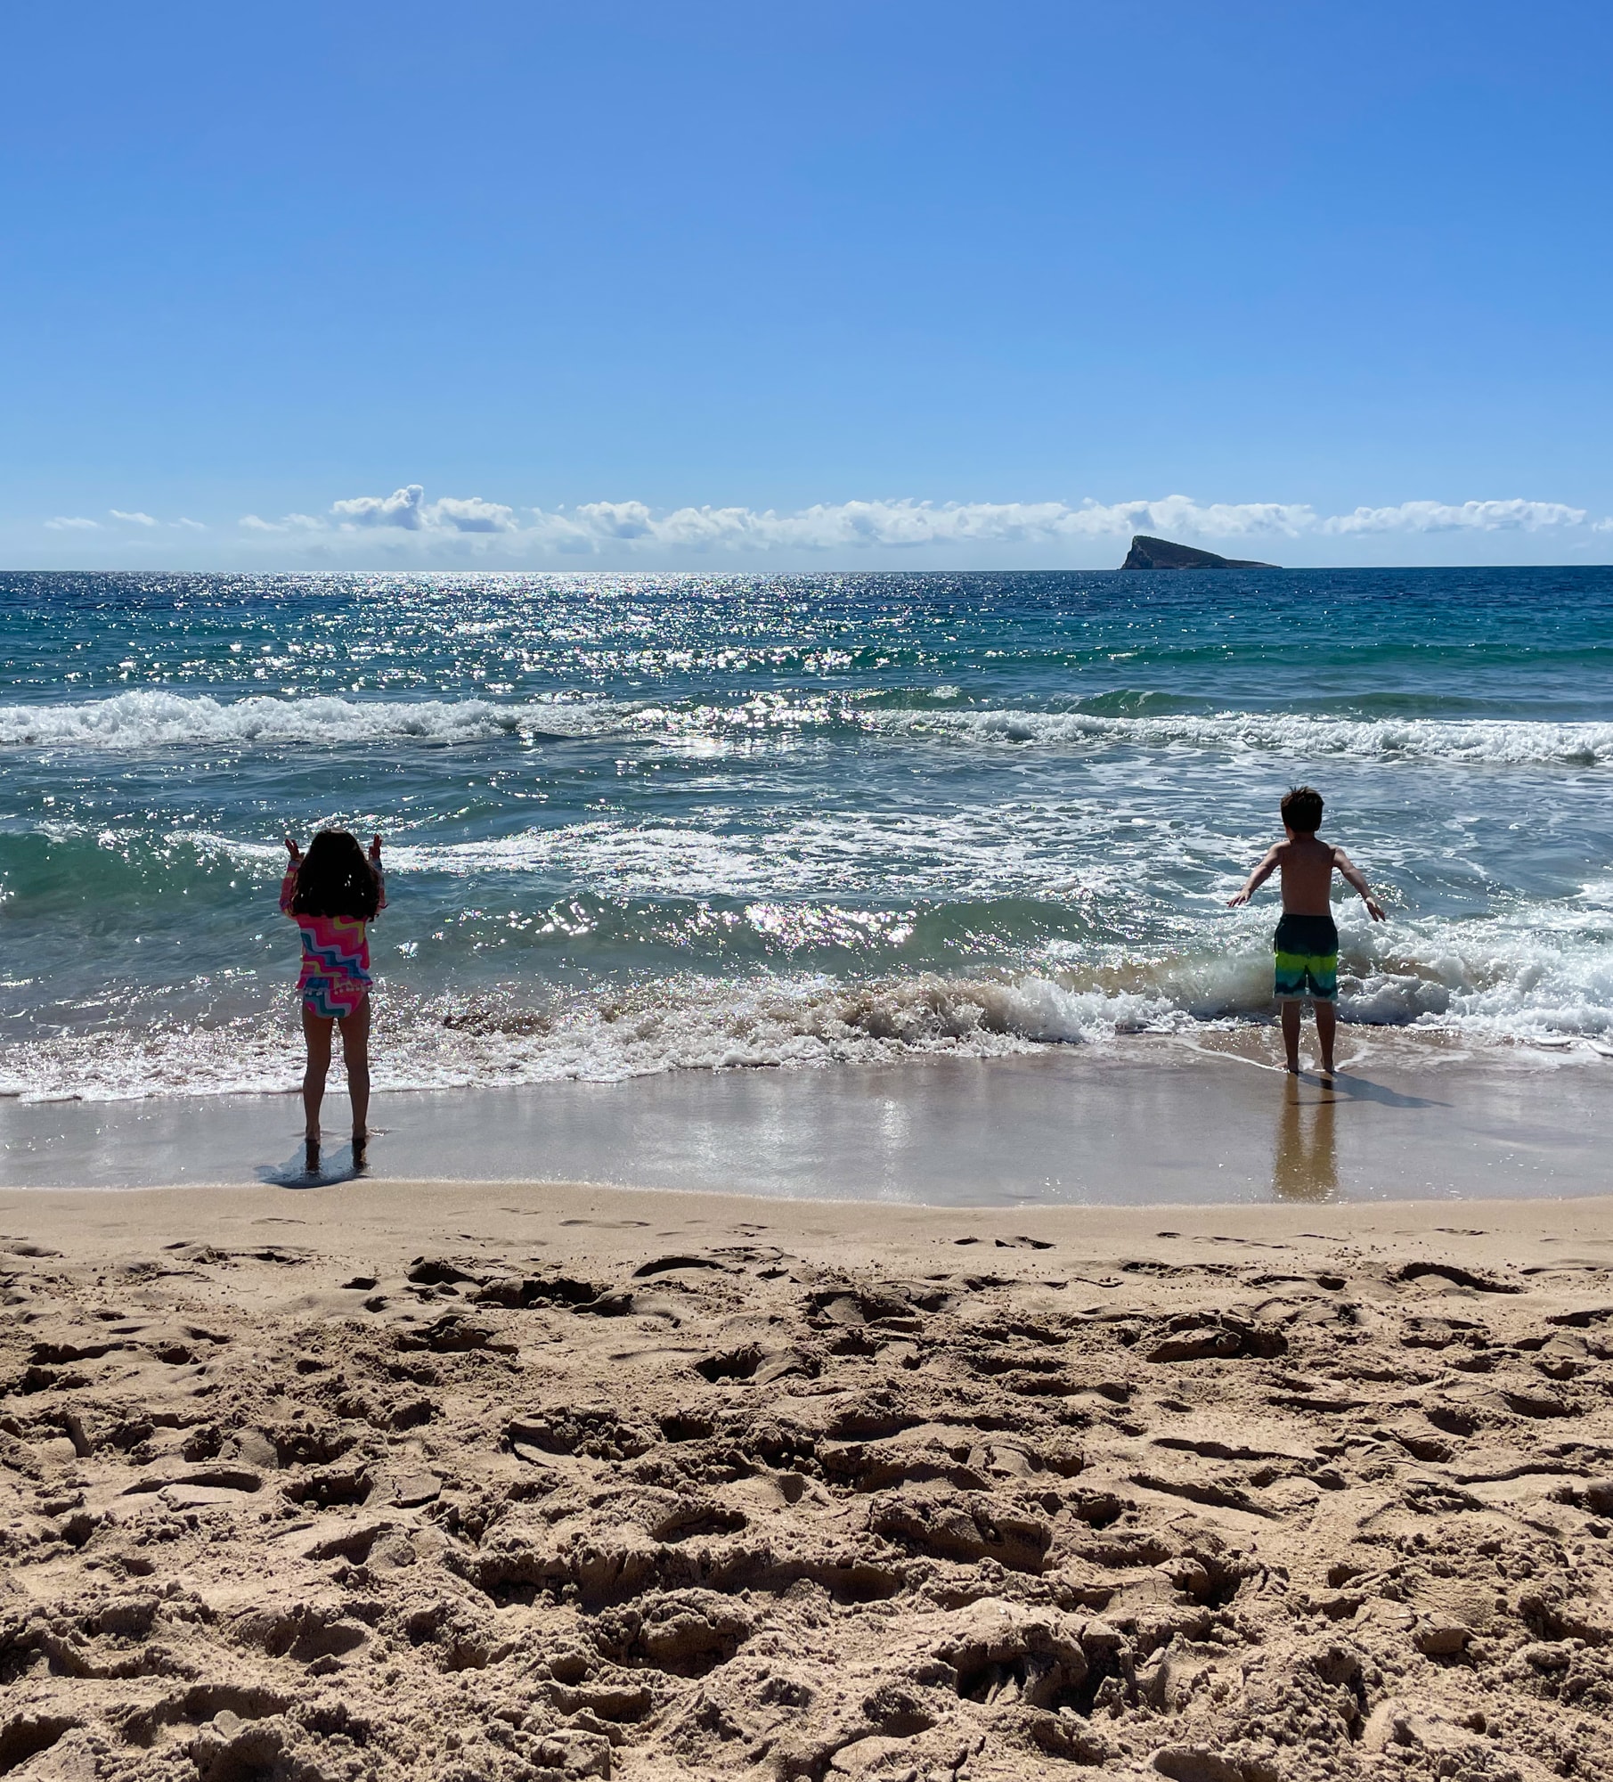
M 386 838 L 383 1087 L 1342 1014 L 1613 1053 L 1613 570 L 0 576 L 0 1091 L 283 1089 L 281 834 Z

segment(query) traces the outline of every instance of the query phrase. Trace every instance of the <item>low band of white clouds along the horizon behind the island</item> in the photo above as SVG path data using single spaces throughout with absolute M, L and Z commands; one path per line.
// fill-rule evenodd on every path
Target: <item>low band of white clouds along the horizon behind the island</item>
M 372 568 L 812 568 L 1113 567 L 1132 533 L 1154 533 L 1228 556 L 1277 561 L 1595 561 L 1613 519 L 1563 501 L 1401 501 L 1325 513 L 1291 501 L 919 501 L 815 503 L 808 508 L 684 506 L 584 501 L 536 508 L 482 495 L 427 497 L 420 483 L 390 495 L 344 495 L 319 513 L 242 515 L 212 529 L 109 508 L 100 519 L 57 515 L 45 529 L 80 540 L 100 560 L 178 554 L 205 567 L 260 567 L 271 558 Z M 189 540 L 189 547 L 180 545 Z M 1447 540 L 1440 544 L 1440 540 Z M 1508 542 L 1512 540 L 1512 542 Z M 71 547 L 78 556 L 78 547 Z M 178 567 L 178 565 L 176 565 Z

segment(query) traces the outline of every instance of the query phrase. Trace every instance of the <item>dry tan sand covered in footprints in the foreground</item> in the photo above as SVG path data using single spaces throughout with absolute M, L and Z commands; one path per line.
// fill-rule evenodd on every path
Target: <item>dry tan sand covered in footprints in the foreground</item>
M 0 1230 L 9 1777 L 1613 1775 L 1609 1203 Z

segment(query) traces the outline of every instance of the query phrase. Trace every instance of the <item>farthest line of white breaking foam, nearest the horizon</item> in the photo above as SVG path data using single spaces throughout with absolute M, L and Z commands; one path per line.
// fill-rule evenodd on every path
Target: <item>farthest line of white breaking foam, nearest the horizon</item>
M 947 688 L 951 697 L 954 690 Z M 1503 718 L 1332 718 L 1309 713 L 1106 716 L 995 707 L 890 711 L 821 691 L 773 693 L 730 706 L 657 706 L 627 700 L 374 699 L 139 690 L 107 699 L 0 706 L 0 747 L 114 748 L 276 747 L 363 743 L 486 743 L 498 738 L 593 736 L 620 731 L 668 743 L 851 723 L 890 738 L 1033 747 L 1207 750 L 1332 756 L 1341 759 L 1451 761 L 1483 766 L 1613 761 L 1613 723 L 1540 723 Z

